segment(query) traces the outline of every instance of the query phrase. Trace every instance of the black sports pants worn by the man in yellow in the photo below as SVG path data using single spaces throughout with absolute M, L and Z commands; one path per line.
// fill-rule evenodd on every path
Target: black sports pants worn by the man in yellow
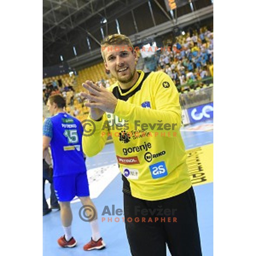
M 124 193 L 124 211 L 132 256 L 166 256 L 166 244 L 172 256 L 202 256 L 192 187 L 157 201 Z

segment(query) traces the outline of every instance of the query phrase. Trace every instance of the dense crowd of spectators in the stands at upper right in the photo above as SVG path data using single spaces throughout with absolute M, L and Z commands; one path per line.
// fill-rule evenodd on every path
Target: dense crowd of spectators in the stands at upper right
M 157 70 L 168 74 L 179 87 L 211 77 L 209 67 L 212 65 L 213 32 L 204 27 L 192 35 L 188 32 L 177 37 L 172 51 L 161 52 Z

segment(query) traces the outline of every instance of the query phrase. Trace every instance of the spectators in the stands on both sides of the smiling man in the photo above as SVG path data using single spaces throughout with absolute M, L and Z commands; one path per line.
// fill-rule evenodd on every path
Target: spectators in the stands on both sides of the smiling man
M 172 51 L 167 50 L 167 48 Z M 175 82 L 179 92 L 189 91 L 195 87 L 203 87 L 207 84 L 207 78 L 213 76 L 213 32 L 203 27 L 198 31 L 183 32 L 182 35 L 175 39 L 175 42 L 167 41 L 165 50 L 161 50 L 160 54 L 152 56 L 154 60 L 154 70 L 161 70 L 168 74 Z M 145 65 L 146 67 L 146 65 Z M 147 68 L 145 68 L 147 70 Z M 144 70 L 144 71 L 145 71 Z M 150 70 L 148 70 L 150 71 Z M 202 80 L 203 79 L 203 80 Z M 196 83 L 195 86 L 195 82 Z M 204 81 L 204 82 L 201 82 Z M 109 80 L 101 79 L 94 81 L 103 87 L 110 87 Z M 209 83 L 212 83 L 210 81 Z M 208 84 L 209 84 L 208 83 Z M 60 80 L 49 79 L 47 84 L 43 84 L 43 102 L 47 104 L 49 96 L 54 94 L 62 94 L 67 102 L 67 107 L 71 107 L 68 113 L 73 116 L 82 114 L 74 105 L 74 100 L 83 106 L 83 99 L 80 92 L 75 92 L 73 85 L 62 83 Z

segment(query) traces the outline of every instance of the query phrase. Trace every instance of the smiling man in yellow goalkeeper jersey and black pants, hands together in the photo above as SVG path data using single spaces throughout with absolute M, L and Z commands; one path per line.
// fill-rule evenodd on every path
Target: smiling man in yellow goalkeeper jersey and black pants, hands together
M 101 51 L 117 82 L 109 90 L 91 81 L 83 84 L 90 115 L 82 145 L 92 157 L 112 134 L 131 254 L 165 256 L 167 244 L 172 256 L 201 256 L 175 84 L 166 73 L 136 70 L 137 55 L 125 35 L 108 36 Z M 90 136 L 87 125 L 95 128 Z

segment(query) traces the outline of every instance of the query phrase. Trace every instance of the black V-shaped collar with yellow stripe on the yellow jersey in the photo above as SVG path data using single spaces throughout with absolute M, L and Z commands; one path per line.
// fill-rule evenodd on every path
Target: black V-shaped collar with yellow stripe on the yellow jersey
M 145 81 L 145 79 L 148 77 L 148 75 L 151 73 L 144 73 L 141 70 L 137 70 L 137 72 L 140 74 L 137 82 L 134 84 L 134 86 L 132 86 L 130 89 L 128 89 L 127 91 L 124 90 L 122 91 L 122 89 L 119 87 L 119 85 L 116 85 L 113 88 L 113 95 L 116 97 L 116 99 L 122 99 L 124 101 L 127 101 L 131 96 L 133 96 L 135 93 L 137 93 L 141 87 L 143 82 Z

